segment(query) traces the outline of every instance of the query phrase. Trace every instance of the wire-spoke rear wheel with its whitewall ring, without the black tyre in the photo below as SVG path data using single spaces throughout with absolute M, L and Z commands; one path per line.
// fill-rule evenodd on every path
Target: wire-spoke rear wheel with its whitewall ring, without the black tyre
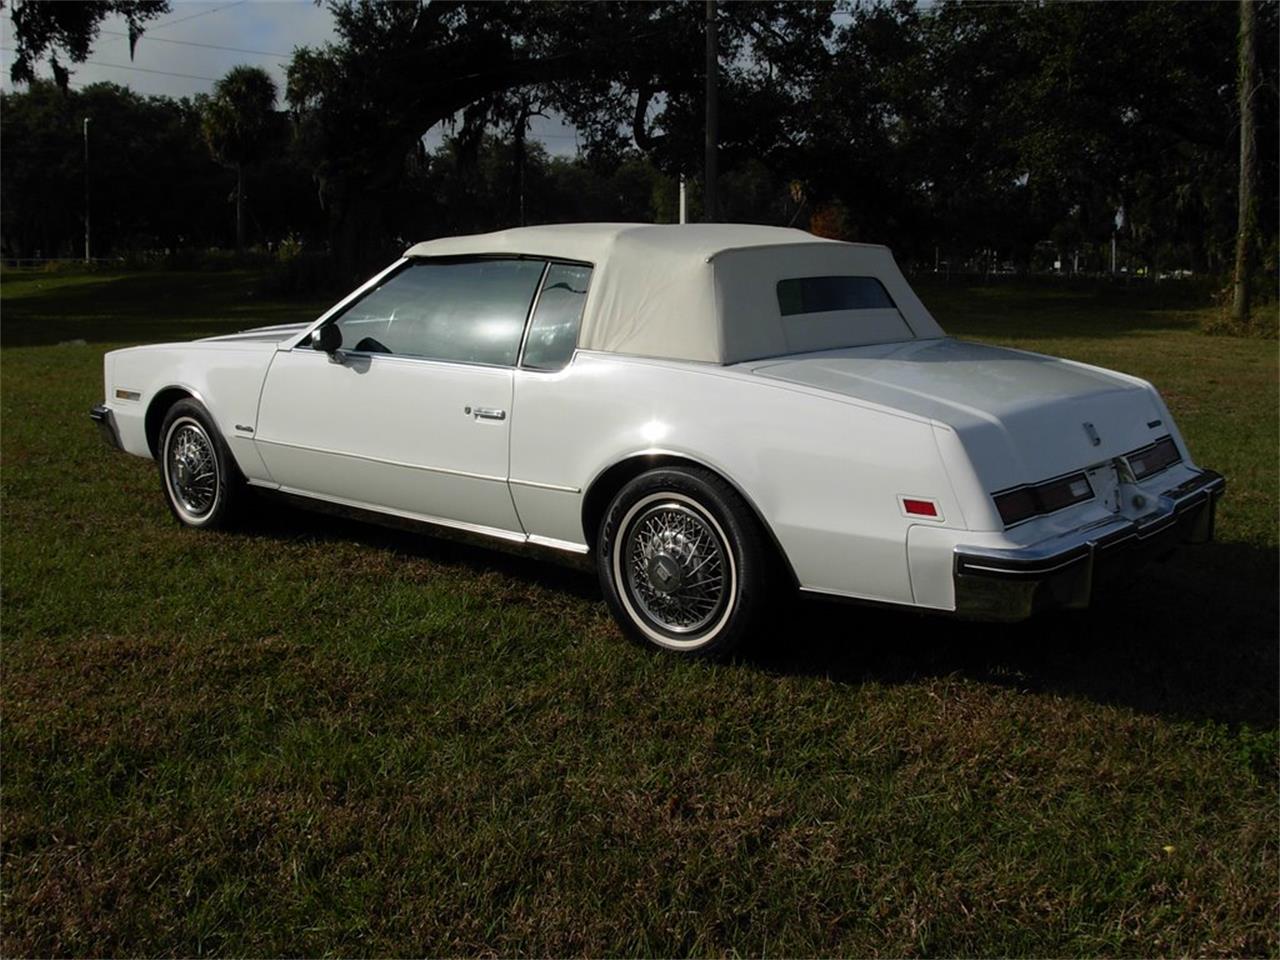
M 696 643 L 732 602 L 732 557 L 719 525 L 680 495 L 635 504 L 617 540 L 616 570 L 630 605 L 676 641 Z

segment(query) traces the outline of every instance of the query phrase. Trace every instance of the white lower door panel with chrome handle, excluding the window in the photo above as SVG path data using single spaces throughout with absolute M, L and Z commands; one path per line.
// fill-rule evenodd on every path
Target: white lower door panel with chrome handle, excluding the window
M 511 381 L 503 367 L 280 351 L 256 445 L 287 492 L 518 534 L 507 489 Z

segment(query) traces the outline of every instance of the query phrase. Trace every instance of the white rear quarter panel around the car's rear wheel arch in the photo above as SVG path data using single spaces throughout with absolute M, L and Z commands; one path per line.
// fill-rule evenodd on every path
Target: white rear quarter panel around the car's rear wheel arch
M 579 352 L 559 374 L 521 371 L 515 407 L 512 492 L 538 536 L 585 547 L 581 495 L 556 488 L 589 489 L 623 460 L 673 454 L 737 486 L 801 586 L 910 603 L 911 521 L 897 498 L 933 498 L 945 518 L 960 516 L 928 420 L 750 370 Z

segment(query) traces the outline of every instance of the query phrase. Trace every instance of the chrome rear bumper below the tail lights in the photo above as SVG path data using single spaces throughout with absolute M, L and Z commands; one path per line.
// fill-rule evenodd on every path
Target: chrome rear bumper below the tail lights
M 1133 567 L 1180 543 L 1213 539 L 1213 512 L 1226 480 L 1204 470 L 1165 490 L 1148 513 L 1108 517 L 1018 549 L 955 549 L 956 613 L 1016 621 L 1047 608 L 1089 605 L 1093 585 L 1120 566 Z

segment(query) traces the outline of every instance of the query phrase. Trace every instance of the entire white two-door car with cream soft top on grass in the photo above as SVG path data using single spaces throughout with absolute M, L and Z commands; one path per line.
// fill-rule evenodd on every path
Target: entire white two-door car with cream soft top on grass
M 579 554 L 690 654 L 774 586 L 1083 607 L 1107 562 L 1211 538 L 1224 490 L 1151 384 L 951 339 L 887 248 L 772 227 L 419 243 L 311 324 L 113 351 L 105 381 L 92 417 L 188 526 L 252 486 Z

